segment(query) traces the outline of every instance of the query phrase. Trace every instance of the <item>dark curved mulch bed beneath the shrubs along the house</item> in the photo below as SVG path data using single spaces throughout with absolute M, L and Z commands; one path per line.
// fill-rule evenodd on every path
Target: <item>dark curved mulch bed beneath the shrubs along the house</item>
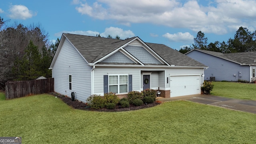
M 161 104 L 161 102 L 156 101 L 152 104 L 143 104 L 142 106 L 134 106 L 134 105 L 130 104 L 129 108 L 121 108 L 119 105 L 117 105 L 116 108 L 112 109 L 112 110 L 109 110 L 109 109 L 106 109 L 106 108 L 93 109 L 93 108 L 88 108 L 88 105 L 86 105 L 84 102 L 79 102 L 78 100 L 72 101 L 71 98 L 66 97 L 64 95 L 61 95 L 61 94 L 58 94 L 58 93 L 55 93 L 55 92 L 50 92 L 49 94 L 51 94 L 53 96 L 57 96 L 63 102 L 68 104 L 68 106 L 70 106 L 72 108 L 79 109 L 79 110 L 98 111 L 98 112 L 123 112 L 123 111 L 130 111 L 130 110 L 140 110 L 140 109 L 143 109 L 143 108 L 150 108 L 150 107 L 157 106 L 157 105 Z

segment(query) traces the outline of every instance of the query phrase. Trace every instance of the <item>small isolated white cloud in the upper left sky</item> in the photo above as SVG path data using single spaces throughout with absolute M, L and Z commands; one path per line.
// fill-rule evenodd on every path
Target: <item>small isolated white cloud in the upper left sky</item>
M 23 5 L 13 5 L 10 7 L 9 12 L 9 17 L 13 19 L 26 20 L 27 18 L 32 18 L 33 15 L 36 15 L 36 13 L 33 14 L 31 10 L 28 10 L 28 8 Z

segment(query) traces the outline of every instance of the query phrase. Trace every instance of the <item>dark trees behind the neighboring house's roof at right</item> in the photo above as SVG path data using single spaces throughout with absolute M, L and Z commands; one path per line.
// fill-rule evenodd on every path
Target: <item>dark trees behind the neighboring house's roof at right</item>
M 215 41 L 214 43 L 208 43 L 207 40 L 208 38 L 204 36 L 204 33 L 199 31 L 196 38 L 194 38 L 194 44 L 184 46 L 179 52 L 185 54 L 194 48 L 222 53 L 256 51 L 256 30 L 250 32 L 248 28 L 242 26 L 236 31 L 234 38 L 229 38 L 227 42 Z

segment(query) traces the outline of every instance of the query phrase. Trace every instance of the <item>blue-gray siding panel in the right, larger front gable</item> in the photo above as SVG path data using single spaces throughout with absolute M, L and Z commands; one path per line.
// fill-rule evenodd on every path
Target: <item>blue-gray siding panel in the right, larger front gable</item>
M 150 54 L 142 46 L 126 46 L 124 47 L 130 54 L 138 58 L 144 64 L 162 64 L 152 54 Z

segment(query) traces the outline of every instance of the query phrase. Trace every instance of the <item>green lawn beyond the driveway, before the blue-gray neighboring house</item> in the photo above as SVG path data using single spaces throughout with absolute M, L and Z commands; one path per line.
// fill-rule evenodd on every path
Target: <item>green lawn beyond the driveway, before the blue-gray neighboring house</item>
M 215 96 L 237 98 L 245 100 L 256 100 L 256 84 L 241 82 L 213 82 L 211 92 Z

